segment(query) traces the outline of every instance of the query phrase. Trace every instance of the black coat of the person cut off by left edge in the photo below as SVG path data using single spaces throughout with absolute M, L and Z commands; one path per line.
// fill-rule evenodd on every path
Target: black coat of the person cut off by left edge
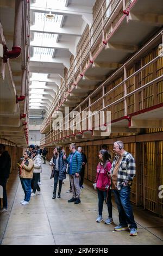
M 9 178 L 11 168 L 11 157 L 8 151 L 4 151 L 0 156 L 0 178 Z

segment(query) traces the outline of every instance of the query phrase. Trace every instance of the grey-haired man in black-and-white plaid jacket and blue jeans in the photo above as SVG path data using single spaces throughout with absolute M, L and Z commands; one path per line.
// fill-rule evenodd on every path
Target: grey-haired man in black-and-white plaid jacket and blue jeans
M 116 156 L 111 166 L 111 188 L 114 192 L 120 220 L 120 224 L 114 230 L 122 231 L 130 228 L 130 235 L 136 236 L 137 225 L 130 204 L 130 186 L 136 173 L 135 159 L 124 150 L 121 141 L 114 143 L 113 150 Z M 130 224 L 129 228 L 128 224 Z

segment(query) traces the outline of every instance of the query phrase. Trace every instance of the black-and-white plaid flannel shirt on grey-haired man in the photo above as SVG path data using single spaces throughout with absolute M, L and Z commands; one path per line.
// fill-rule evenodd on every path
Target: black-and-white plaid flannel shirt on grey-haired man
M 118 155 L 115 156 L 114 161 L 112 162 L 110 169 L 111 173 L 113 173 L 117 158 Z M 121 190 L 121 187 L 123 186 L 124 182 L 128 185 L 131 185 L 131 182 L 133 181 L 135 174 L 135 159 L 130 153 L 125 151 L 117 173 L 117 189 Z

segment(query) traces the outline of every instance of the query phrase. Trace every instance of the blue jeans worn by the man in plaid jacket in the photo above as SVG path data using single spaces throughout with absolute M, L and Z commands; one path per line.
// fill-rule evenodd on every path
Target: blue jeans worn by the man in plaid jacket
M 133 210 L 130 204 L 130 186 L 122 186 L 121 190 L 112 190 L 115 196 L 119 212 L 120 225 L 126 227 L 130 224 L 130 228 L 137 228 L 134 220 Z

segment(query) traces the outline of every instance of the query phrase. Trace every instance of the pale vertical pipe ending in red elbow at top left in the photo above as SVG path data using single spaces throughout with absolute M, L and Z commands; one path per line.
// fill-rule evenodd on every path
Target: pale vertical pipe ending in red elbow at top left
M 4 45 L 4 63 L 9 59 L 15 59 L 21 54 L 21 31 L 22 31 L 22 7 L 23 0 L 15 0 L 15 21 L 14 21 L 14 45 L 12 50 L 8 51 L 6 45 Z

